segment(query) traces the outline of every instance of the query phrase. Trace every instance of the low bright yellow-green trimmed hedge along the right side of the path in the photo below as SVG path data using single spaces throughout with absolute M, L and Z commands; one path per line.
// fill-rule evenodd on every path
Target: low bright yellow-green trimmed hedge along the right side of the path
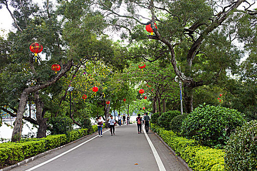
M 168 131 L 154 124 L 151 124 L 151 129 L 194 171 L 224 171 L 224 151 L 199 146 L 195 140 L 178 137 L 172 130 Z

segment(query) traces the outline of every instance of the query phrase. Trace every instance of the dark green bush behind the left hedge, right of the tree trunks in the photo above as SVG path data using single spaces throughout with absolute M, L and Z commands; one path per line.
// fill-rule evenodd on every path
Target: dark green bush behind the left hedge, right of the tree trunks
M 73 121 L 67 117 L 52 118 L 49 123 L 52 125 L 51 134 L 67 134 L 73 129 Z

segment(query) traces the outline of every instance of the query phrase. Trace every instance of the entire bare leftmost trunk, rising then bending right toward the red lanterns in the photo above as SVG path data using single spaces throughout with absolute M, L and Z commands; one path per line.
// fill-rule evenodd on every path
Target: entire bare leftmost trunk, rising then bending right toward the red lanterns
M 59 74 L 57 74 L 53 79 L 34 86 L 27 87 L 23 90 L 23 93 L 21 95 L 21 99 L 19 102 L 19 107 L 17 111 L 17 117 L 15 120 L 15 125 L 13 128 L 13 133 L 12 133 L 12 142 L 19 141 L 21 139 L 21 134 L 22 134 L 22 118 L 23 118 L 23 113 L 26 107 L 26 101 L 28 99 L 28 95 L 30 93 L 36 92 L 40 89 L 46 88 L 47 86 L 50 86 L 54 84 L 56 81 L 58 81 L 61 77 L 63 77 L 66 72 L 68 72 L 73 64 L 73 61 L 71 60 L 68 62 L 66 65 L 63 66 L 63 69 Z

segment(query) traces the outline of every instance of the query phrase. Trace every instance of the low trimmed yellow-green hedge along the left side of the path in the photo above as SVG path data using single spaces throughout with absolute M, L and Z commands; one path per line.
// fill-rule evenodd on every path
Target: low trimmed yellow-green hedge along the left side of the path
M 97 126 L 93 126 L 94 132 Z M 88 135 L 88 128 L 72 130 L 65 134 L 48 135 L 45 138 L 22 139 L 20 142 L 0 144 L 0 168 L 23 161 L 41 152 L 63 146 Z

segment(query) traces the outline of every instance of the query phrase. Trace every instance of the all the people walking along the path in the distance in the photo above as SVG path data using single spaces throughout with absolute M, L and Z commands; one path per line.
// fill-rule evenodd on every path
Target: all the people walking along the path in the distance
M 123 125 L 126 124 L 126 116 L 123 114 L 121 117 L 120 114 L 118 115 L 118 125 L 121 126 L 121 119 L 123 121 Z M 107 118 L 108 121 L 108 128 L 110 128 L 111 135 L 115 135 L 115 125 L 117 124 L 115 119 L 113 119 L 113 115 L 109 115 Z M 138 114 L 138 117 L 136 118 L 137 126 L 138 126 L 138 133 L 142 133 L 142 125 L 145 126 L 145 131 L 148 133 L 149 131 L 149 121 L 150 117 L 148 116 L 148 113 L 146 112 L 143 117 L 140 117 L 140 114 Z M 99 137 L 102 137 L 102 128 L 104 120 L 101 116 L 96 118 L 97 128 L 98 128 L 98 135 Z M 127 125 L 130 124 L 130 116 L 127 116 Z

